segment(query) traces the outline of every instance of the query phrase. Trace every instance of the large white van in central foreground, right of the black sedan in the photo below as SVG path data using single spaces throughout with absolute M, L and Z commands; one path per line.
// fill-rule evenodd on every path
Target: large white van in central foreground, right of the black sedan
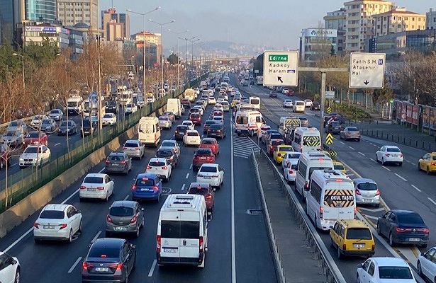
M 203 195 L 169 195 L 157 221 L 157 264 L 204 267 L 207 217 Z

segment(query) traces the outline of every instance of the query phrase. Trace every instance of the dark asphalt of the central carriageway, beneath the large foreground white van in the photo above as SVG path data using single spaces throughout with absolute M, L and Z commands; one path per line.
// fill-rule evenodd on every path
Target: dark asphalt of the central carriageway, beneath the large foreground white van
M 208 106 L 203 121 L 211 112 Z M 187 112 L 187 111 L 186 111 Z M 187 114 L 181 120 L 186 119 Z M 130 275 L 130 282 L 276 282 L 276 275 L 269 250 L 269 239 L 262 214 L 248 214 L 248 209 L 261 207 L 255 179 L 247 178 L 252 173 L 247 158 L 233 157 L 230 113 L 225 113 L 225 126 L 228 135 L 219 140 L 220 154 L 216 163 L 225 169 L 225 180 L 221 190 L 216 192 L 213 219 L 209 222 L 209 245 L 206 254 L 206 267 L 164 267 L 155 264 L 156 229 L 160 204 L 143 202 L 145 208 L 145 229 L 139 238 L 128 238 L 138 249 L 136 269 Z M 173 131 L 163 130 L 162 139 L 172 139 Z M 199 132 L 203 127 L 196 126 Z M 65 137 L 63 137 L 65 140 Z M 54 138 L 52 139 L 54 140 Z M 58 141 L 59 142 L 59 141 Z M 247 156 L 249 149 L 246 150 Z M 131 199 L 131 184 L 145 166 L 156 149 L 147 149 L 142 161 L 133 161 L 133 170 L 128 176 L 111 175 L 115 181 L 115 194 L 106 202 L 79 202 L 78 188 L 82 180 L 71 185 L 52 203 L 73 204 L 83 214 L 83 233 L 76 235 L 71 244 L 44 242 L 34 243 L 32 226 L 38 213 L 30 216 L 23 224 L 1 239 L 0 250 L 16 256 L 21 262 L 22 282 L 57 283 L 80 282 L 82 260 L 88 252 L 89 244 L 95 238 L 104 237 L 104 227 L 108 207 L 115 200 Z M 181 159 L 173 171 L 171 180 L 163 183 L 165 192 L 183 193 L 196 174 L 191 169 L 194 147 L 181 146 Z M 104 162 L 91 172 L 101 172 Z M 44 272 L 45 271 L 45 272 Z M 35 273 L 38 274 L 35 276 Z

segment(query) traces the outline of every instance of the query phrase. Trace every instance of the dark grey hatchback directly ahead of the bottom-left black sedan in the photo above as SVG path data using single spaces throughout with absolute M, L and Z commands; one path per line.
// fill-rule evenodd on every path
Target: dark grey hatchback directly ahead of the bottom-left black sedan
M 113 233 L 133 233 L 138 238 L 144 226 L 144 209 L 132 200 L 117 200 L 106 216 L 106 237 Z

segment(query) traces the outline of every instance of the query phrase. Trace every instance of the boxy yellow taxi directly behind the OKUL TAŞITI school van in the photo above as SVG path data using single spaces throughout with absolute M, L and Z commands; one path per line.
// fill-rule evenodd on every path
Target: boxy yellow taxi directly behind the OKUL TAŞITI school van
M 343 256 L 370 258 L 376 246 L 367 224 L 357 219 L 337 220 L 330 229 L 330 244 L 337 249 L 337 259 Z

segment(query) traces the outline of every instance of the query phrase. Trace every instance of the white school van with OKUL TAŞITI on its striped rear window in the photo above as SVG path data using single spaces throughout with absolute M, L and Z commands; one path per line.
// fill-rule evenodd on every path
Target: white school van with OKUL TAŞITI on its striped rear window
M 306 214 L 315 227 L 328 231 L 337 219 L 354 219 L 356 192 L 347 174 L 337 170 L 315 170 L 306 197 Z

